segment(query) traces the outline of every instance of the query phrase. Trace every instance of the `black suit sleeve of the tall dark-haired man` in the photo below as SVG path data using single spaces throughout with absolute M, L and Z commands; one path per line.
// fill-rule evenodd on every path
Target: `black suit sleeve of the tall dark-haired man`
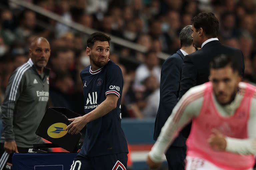
M 189 55 L 186 55 L 184 58 L 184 66 L 182 69 L 181 81 L 180 81 L 180 93 L 179 93 L 180 99 L 191 87 L 196 86 L 196 77 L 197 77 L 196 66 L 191 60 L 191 58 L 189 57 Z

